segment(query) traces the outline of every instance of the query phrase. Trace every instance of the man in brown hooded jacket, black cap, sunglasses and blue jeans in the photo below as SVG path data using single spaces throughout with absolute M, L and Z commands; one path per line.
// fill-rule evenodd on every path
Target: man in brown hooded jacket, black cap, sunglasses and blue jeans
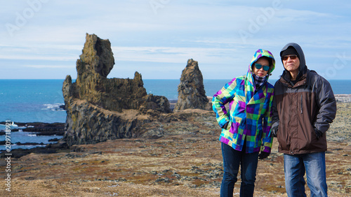
M 300 45 L 288 43 L 280 52 L 285 70 L 274 85 L 272 133 L 284 153 L 288 196 L 327 196 L 326 131 L 336 116 L 336 100 L 327 80 L 307 69 Z

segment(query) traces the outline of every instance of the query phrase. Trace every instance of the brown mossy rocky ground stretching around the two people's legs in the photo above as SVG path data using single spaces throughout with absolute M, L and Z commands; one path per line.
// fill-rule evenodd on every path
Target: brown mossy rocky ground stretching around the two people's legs
M 329 196 L 351 196 L 350 114 L 351 103 L 338 102 L 328 131 Z M 11 191 L 5 190 L 8 163 L 2 158 L 0 196 L 219 196 L 223 161 L 213 112 L 171 113 L 144 127 L 143 138 L 12 158 Z M 258 163 L 255 196 L 286 196 L 277 146 L 274 139 L 272 154 Z

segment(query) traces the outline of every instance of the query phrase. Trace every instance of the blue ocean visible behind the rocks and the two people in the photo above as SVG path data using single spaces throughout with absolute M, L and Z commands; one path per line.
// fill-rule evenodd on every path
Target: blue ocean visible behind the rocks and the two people
M 207 96 L 213 96 L 227 80 L 204 80 Z M 0 80 L 0 122 L 65 122 L 62 83 L 64 80 Z M 168 100 L 178 99 L 180 80 L 143 80 L 147 94 L 166 96 Z M 273 85 L 276 80 L 270 80 Z M 351 94 L 351 80 L 329 80 L 334 94 Z M 29 124 L 30 125 L 30 124 Z M 13 132 L 12 142 L 48 143 L 60 136 L 36 136 L 35 133 Z M 0 136 L 0 141 L 5 136 Z M 0 149 L 4 149 L 0 146 Z M 18 146 L 19 147 L 19 146 Z M 23 146 L 21 146 L 23 147 Z M 27 146 L 23 148 L 30 148 Z M 15 147 L 14 147 L 15 148 Z

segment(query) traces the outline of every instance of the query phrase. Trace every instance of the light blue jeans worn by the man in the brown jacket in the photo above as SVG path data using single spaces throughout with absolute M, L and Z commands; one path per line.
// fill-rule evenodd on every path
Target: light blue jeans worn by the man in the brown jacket
M 325 152 L 284 154 L 285 187 L 289 197 L 306 196 L 305 172 L 311 196 L 327 196 L 325 156 Z

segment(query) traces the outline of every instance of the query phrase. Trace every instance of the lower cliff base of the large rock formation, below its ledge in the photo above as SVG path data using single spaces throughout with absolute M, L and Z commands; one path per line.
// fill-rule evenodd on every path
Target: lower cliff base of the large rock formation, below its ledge
M 138 110 L 112 112 L 79 99 L 74 99 L 70 104 L 70 115 L 66 121 L 68 129 L 63 138 L 69 146 L 133 138 L 135 126 L 150 122 L 151 119 L 140 115 Z

